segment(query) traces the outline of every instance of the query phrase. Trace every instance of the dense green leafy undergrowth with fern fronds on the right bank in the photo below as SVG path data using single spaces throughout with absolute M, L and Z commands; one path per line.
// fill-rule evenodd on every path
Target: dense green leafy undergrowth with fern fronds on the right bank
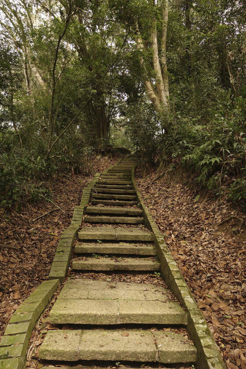
M 179 162 L 195 181 L 229 198 L 246 203 L 246 87 L 242 96 L 229 91 L 226 100 L 207 111 L 206 118 L 187 111 L 170 117 L 170 131 L 162 145 L 166 158 Z

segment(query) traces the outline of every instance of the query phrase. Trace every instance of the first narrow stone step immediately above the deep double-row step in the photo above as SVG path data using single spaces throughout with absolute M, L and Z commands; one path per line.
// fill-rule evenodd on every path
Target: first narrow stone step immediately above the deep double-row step
M 152 259 L 138 259 L 138 258 L 86 258 L 73 259 L 72 268 L 74 270 L 141 270 L 145 272 L 159 272 L 159 261 Z M 99 324 L 99 323 L 98 323 Z

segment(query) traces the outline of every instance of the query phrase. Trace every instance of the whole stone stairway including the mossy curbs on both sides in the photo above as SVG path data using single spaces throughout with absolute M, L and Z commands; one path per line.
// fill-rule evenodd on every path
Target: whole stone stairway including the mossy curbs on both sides
M 84 188 L 72 223 L 60 237 L 49 281 L 37 287 L 8 324 L 0 347 L 1 369 L 225 368 L 143 204 L 134 170 L 135 158 L 127 155 Z M 59 282 L 64 283 L 57 290 Z M 54 302 L 51 310 L 46 308 Z M 31 364 L 35 346 L 39 362 Z

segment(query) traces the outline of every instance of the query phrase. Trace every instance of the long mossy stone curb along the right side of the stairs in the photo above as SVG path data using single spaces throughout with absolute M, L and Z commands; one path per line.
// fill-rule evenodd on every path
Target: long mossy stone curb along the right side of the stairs
M 143 211 L 144 225 L 155 235 L 154 244 L 157 248 L 157 257 L 161 263 L 161 276 L 171 292 L 177 297 L 181 306 L 188 313 L 187 331 L 197 347 L 197 367 L 199 369 L 226 369 L 226 365 L 219 352 L 209 326 L 181 274 L 173 255 L 169 251 L 163 235 L 160 233 L 152 215 L 145 206 L 141 192 L 135 180 L 135 168 L 132 168 L 132 186 L 136 191 L 138 206 Z

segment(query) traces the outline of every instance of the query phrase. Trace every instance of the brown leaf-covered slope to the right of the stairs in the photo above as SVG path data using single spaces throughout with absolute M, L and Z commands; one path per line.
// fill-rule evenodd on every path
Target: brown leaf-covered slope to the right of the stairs
M 245 214 L 177 177 L 135 179 L 229 369 L 246 369 Z M 197 200 L 197 201 L 196 201 Z M 228 219 L 229 218 L 229 219 Z

